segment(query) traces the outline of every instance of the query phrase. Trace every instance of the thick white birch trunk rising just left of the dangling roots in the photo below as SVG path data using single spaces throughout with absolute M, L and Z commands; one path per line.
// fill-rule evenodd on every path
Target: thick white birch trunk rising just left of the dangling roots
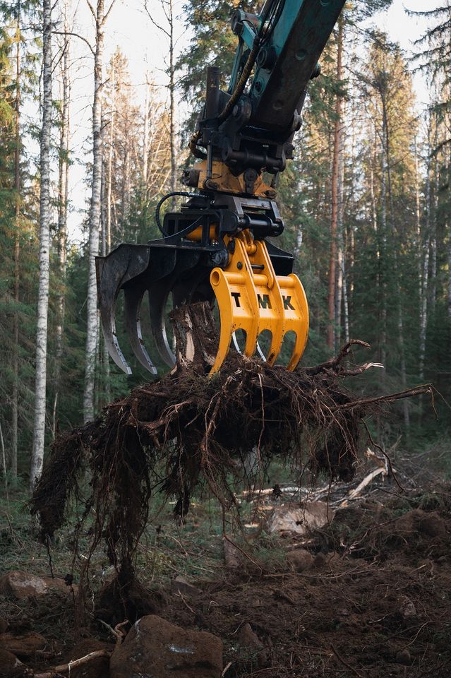
M 49 308 L 50 141 L 52 131 L 52 2 L 42 0 L 42 129 L 40 138 L 40 276 L 37 299 L 35 421 L 30 488 L 44 462 L 47 383 L 47 316 Z

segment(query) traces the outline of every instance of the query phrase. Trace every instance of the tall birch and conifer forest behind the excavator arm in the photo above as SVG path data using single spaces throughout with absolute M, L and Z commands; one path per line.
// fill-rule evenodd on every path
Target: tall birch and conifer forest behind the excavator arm
M 117 47 L 104 59 L 112 5 L 82 1 L 95 25 L 92 42 L 73 31 L 70 0 L 0 2 L 0 468 L 10 483 L 40 474 L 59 429 L 90 420 L 146 379 L 133 359 L 131 377 L 109 362 L 94 256 L 157 237 L 157 201 L 183 188 L 206 66 L 220 66 L 225 84 L 236 45 L 229 1 L 186 0 L 181 8 L 143 0 L 162 32 L 167 70 L 164 85 L 148 71 L 140 105 L 127 55 Z M 349 2 L 323 54 L 296 159 L 279 181 L 286 224 L 279 243 L 295 253 L 310 304 L 303 364 L 359 338 L 371 344 L 367 359 L 385 366 L 362 378 L 362 391 L 431 381 L 443 396 L 438 421 L 426 400 L 406 401 L 378 422 L 378 441 L 388 446 L 401 436 L 408 449 L 440 446 L 451 464 L 451 6 L 422 12 L 428 28 L 409 60 L 368 24 L 388 6 Z M 181 22 L 190 40 L 180 53 Z M 90 52 L 88 155 L 72 137 L 79 40 Z M 414 69 L 428 83 L 426 109 L 416 102 Z M 32 105 L 39 116 L 29 115 Z M 87 157 L 90 200 L 79 246 L 68 239 L 68 177 Z M 157 363 L 150 338 L 148 346 Z

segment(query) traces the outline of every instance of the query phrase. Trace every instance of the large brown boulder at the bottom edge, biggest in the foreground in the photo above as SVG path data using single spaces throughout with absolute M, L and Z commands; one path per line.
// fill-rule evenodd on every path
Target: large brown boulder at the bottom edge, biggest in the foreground
M 149 614 L 138 619 L 109 661 L 110 678 L 220 678 L 222 641 Z

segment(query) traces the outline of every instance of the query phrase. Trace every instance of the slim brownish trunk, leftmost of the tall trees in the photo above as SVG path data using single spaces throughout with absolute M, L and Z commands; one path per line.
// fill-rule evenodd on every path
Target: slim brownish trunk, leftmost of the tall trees
M 16 139 L 14 148 L 14 188 L 15 196 L 15 232 L 14 232 L 14 304 L 18 309 L 20 302 L 20 3 L 17 4 L 16 24 L 16 103 L 15 103 Z M 11 393 L 11 479 L 17 478 L 18 454 L 18 413 L 19 413 L 19 314 L 14 311 L 13 318 L 13 388 Z

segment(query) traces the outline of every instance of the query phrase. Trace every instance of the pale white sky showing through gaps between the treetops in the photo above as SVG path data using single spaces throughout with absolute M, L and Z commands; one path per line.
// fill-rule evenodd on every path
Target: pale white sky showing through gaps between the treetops
M 365 0 L 356 0 L 357 3 Z M 387 32 L 391 40 L 399 42 L 407 54 L 411 52 L 412 42 L 425 30 L 424 18 L 409 17 L 404 8 L 424 10 L 436 7 L 440 0 L 393 0 L 391 8 L 373 17 L 371 23 Z M 107 1 L 105 6 L 109 6 Z M 176 22 L 177 50 L 186 47 L 189 30 L 186 30 L 181 17 L 183 0 L 174 0 L 174 11 L 179 15 Z M 232 6 L 232 2 L 231 2 Z M 160 0 L 148 0 L 148 8 L 157 23 L 164 25 Z M 73 30 L 92 40 L 92 16 L 85 0 L 76 0 L 73 5 Z M 167 38 L 150 22 L 144 8 L 144 0 L 116 0 L 105 30 L 105 63 L 119 45 L 126 55 L 133 83 L 133 93 L 137 102 L 142 102 L 146 76 L 160 85 L 164 85 L 167 76 L 164 73 Z M 81 210 L 86 208 L 85 165 L 90 160 L 90 105 L 92 99 L 92 55 L 86 45 L 73 38 L 72 54 L 77 75 L 73 81 L 72 133 L 73 157 L 78 162 L 71 169 L 69 215 L 69 237 L 80 239 Z M 427 86 L 423 76 L 414 78 L 419 107 L 427 101 Z M 162 90 L 164 95 L 164 90 Z M 55 97 L 57 97 L 55 93 Z

